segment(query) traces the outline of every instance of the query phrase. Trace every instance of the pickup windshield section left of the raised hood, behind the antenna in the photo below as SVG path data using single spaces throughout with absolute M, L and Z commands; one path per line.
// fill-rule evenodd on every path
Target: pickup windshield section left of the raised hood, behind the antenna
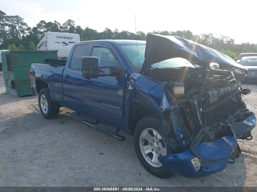
M 119 46 L 125 53 L 134 71 L 139 73 L 144 63 L 145 44 L 124 44 Z

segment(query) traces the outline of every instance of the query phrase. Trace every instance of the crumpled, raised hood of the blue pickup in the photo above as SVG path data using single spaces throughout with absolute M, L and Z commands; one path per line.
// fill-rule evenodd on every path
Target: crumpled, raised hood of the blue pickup
M 245 66 L 235 62 L 231 57 L 205 45 L 182 37 L 148 34 L 144 54 L 145 61 L 140 73 L 146 72 L 148 67 L 154 63 L 175 57 L 197 62 L 203 67 L 210 67 L 210 63 L 213 62 L 247 71 Z

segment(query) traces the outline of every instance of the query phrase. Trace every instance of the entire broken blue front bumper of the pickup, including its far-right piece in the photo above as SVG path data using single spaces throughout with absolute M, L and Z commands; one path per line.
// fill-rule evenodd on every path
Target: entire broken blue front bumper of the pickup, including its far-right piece
M 188 178 L 204 177 L 224 170 L 229 159 L 237 153 L 237 138 L 251 140 L 251 130 L 255 127 L 255 123 L 255 114 L 250 112 L 250 116 L 245 120 L 232 124 L 234 136 L 224 136 L 213 142 L 203 142 L 193 151 L 191 148 L 182 153 L 158 157 L 158 160 L 167 170 Z M 196 158 L 199 170 L 192 161 Z

